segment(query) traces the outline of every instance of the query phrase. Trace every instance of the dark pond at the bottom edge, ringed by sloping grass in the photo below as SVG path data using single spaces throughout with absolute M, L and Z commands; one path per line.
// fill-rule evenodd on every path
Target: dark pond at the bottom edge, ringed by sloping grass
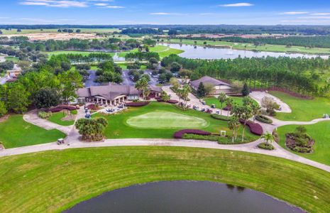
M 150 182 L 106 192 L 65 212 L 303 212 L 261 192 L 216 182 Z

